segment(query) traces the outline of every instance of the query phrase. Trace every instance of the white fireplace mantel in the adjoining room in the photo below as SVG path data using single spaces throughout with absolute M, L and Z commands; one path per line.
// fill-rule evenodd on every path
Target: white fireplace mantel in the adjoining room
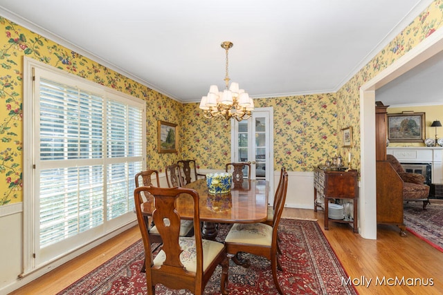
M 431 163 L 432 183 L 443 183 L 443 146 L 388 146 L 386 153 L 400 163 Z

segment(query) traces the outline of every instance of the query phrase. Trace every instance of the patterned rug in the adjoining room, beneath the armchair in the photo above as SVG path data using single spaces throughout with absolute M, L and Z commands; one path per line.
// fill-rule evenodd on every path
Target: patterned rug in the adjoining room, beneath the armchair
M 431 200 L 423 210 L 423 202 L 408 202 L 403 211 L 406 229 L 443 252 L 443 204 Z

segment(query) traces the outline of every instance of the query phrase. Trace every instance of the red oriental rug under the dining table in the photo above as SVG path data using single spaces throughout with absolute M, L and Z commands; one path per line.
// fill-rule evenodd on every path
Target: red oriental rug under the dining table
M 230 225 L 219 225 L 217 240 L 224 240 Z M 345 270 L 331 249 L 316 221 L 280 220 L 280 248 L 283 272 L 278 278 L 287 294 L 356 294 L 352 286 L 343 284 Z M 278 294 L 274 286 L 271 263 L 266 258 L 242 254 L 251 267 L 230 261 L 228 289 L 230 294 Z M 111 258 L 59 294 L 146 294 L 141 240 Z M 220 294 L 221 267 L 217 267 L 204 294 Z M 171 290 L 156 285 L 156 294 L 191 294 L 187 290 Z

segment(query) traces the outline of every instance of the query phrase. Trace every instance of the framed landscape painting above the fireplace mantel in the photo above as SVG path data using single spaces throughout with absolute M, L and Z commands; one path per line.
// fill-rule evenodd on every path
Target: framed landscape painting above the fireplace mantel
M 389 142 L 424 142 L 424 113 L 388 114 Z

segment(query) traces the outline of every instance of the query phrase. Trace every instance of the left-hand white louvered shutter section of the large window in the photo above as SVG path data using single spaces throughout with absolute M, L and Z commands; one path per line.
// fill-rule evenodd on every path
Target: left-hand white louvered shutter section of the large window
M 40 79 L 39 247 L 102 225 L 103 98 Z M 82 166 L 77 166 L 82 159 Z

